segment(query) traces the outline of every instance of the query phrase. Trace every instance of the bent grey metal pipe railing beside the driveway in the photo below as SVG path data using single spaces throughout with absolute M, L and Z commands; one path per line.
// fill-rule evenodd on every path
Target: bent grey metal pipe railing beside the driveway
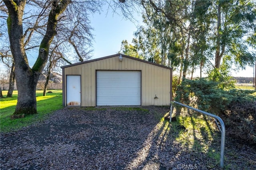
M 171 102 L 171 108 L 170 108 L 170 122 L 172 122 L 172 103 L 176 103 L 176 104 L 179 104 L 179 105 L 181 105 L 183 107 L 187 107 L 188 109 L 192 109 L 192 110 L 198 111 L 198 112 L 200 112 L 202 114 L 214 117 L 215 119 L 217 119 L 220 122 L 220 126 L 221 126 L 220 167 L 224 168 L 225 125 L 224 125 L 224 122 L 222 121 L 222 119 L 220 117 L 218 117 L 217 115 L 214 115 L 214 114 L 211 114 L 211 113 L 207 113 L 205 111 L 202 111 L 202 110 L 196 109 L 194 107 L 190 107 L 190 106 L 184 105 L 184 104 L 179 103 L 179 102 L 172 101 Z

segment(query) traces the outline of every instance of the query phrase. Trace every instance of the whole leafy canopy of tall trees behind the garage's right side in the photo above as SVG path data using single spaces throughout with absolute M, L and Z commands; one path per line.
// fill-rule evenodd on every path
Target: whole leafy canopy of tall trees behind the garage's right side
M 144 25 L 134 33 L 132 46 L 145 59 L 177 67 L 180 77 L 196 68 L 212 74 L 232 64 L 244 69 L 255 63 L 249 49 L 255 48 L 255 0 L 148 0 L 142 5 Z

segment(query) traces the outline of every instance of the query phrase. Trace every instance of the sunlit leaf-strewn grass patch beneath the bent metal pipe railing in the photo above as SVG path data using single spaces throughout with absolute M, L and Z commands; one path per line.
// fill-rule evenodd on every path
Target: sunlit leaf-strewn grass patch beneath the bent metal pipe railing
M 212 161 L 209 168 L 220 164 L 220 145 L 212 145 L 213 141 L 220 141 L 221 133 L 218 132 L 214 121 L 200 113 L 190 112 L 176 116 L 172 121 L 169 135 L 179 143 L 184 150 L 200 155 L 206 154 Z M 209 119 L 209 120 L 208 120 Z

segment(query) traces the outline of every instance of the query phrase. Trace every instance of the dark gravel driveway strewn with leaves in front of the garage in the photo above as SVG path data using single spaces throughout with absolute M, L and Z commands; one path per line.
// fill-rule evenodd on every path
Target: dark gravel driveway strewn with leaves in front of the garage
M 1 169 L 211 169 L 207 154 L 168 137 L 170 126 L 158 117 L 168 111 L 65 107 L 42 123 L 1 133 Z

